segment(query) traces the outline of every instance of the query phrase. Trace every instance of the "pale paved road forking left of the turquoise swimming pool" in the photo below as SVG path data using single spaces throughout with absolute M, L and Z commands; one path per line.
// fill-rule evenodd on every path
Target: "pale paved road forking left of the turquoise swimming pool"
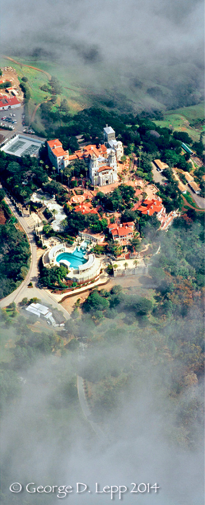
M 2 187 L 0 185 L 0 187 Z M 22 284 L 10 295 L 6 296 L 6 298 L 3 298 L 0 301 L 0 307 L 6 307 L 9 305 L 12 301 L 15 302 L 15 304 L 18 304 L 19 301 L 22 300 L 22 298 L 27 297 L 27 298 L 33 298 L 34 296 L 42 300 L 43 303 L 50 304 L 54 308 L 57 308 L 58 310 L 61 310 L 65 316 L 66 319 L 70 319 L 70 314 L 67 312 L 64 307 L 59 305 L 56 300 L 53 299 L 52 295 L 49 293 L 48 290 L 44 288 L 38 288 L 38 260 L 37 260 L 37 247 L 35 244 L 34 236 L 33 236 L 33 226 L 30 225 L 31 219 L 28 217 L 24 216 L 19 216 L 14 204 L 12 203 L 11 199 L 6 196 L 5 201 L 7 205 L 9 205 L 11 211 L 13 212 L 14 216 L 18 219 L 20 225 L 23 227 L 25 230 L 30 248 L 31 248 L 31 265 L 29 272 L 26 276 L 26 278 L 23 280 Z M 28 288 L 29 282 L 32 282 L 33 288 Z

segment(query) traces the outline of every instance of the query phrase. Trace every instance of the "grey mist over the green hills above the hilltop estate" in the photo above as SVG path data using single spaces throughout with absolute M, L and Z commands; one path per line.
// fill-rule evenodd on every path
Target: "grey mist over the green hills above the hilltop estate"
M 127 89 L 140 105 L 148 90 L 148 107 L 201 99 L 202 0 L 21 0 L 2 18 L 2 52 L 73 68 L 97 92 Z

